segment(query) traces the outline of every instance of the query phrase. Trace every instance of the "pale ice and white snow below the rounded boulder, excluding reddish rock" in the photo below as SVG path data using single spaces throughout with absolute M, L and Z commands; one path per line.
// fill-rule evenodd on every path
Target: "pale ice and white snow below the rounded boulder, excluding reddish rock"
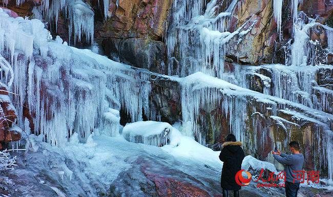
M 105 187 L 103 189 L 108 190 L 108 187 L 117 178 L 118 174 L 133 165 L 131 163 L 133 160 L 129 158 L 149 156 L 154 158 L 162 157 L 165 161 L 170 162 L 176 161 L 182 164 L 177 166 L 179 170 L 194 177 L 202 177 L 200 175 L 202 170 L 214 169 L 219 173 L 222 168 L 222 162 L 218 158 L 219 151 L 213 151 L 210 148 L 200 145 L 190 137 L 182 136 L 180 132 L 177 132 L 177 129 L 171 138 L 170 145 L 165 145 L 161 148 L 131 143 L 124 140 L 122 136 L 109 137 L 94 134 L 89 136 L 87 143 L 79 143 L 78 135 L 74 134 L 63 148 L 51 146 L 41 140 L 37 136 L 30 136 L 30 141 L 33 143 L 34 148 L 28 154 L 43 153 L 48 158 L 51 155 L 54 157 L 54 154 L 58 155 L 51 159 L 54 162 L 48 165 L 52 165 L 50 166 L 52 170 L 47 173 L 62 174 L 58 179 L 61 182 L 60 185 L 68 184 L 64 188 L 75 190 L 77 188 L 73 186 L 73 181 L 80 182 L 91 193 L 95 192 L 92 185 Z M 43 160 L 43 157 L 40 157 L 40 160 Z M 70 162 L 70 165 L 66 165 L 66 162 L 59 162 L 59 160 L 73 162 Z M 43 163 L 41 161 L 28 162 L 32 163 L 32 165 Z M 205 165 L 211 168 L 205 168 Z M 189 168 L 189 166 L 196 167 Z M 38 171 L 44 168 L 46 170 L 49 167 L 38 166 Z M 62 179 L 63 181 L 61 181 Z M 219 176 L 212 179 L 218 181 Z M 47 180 L 45 181 L 47 182 Z M 72 194 L 76 194 L 75 192 L 78 191 L 71 191 Z M 90 196 L 96 195 L 92 194 Z

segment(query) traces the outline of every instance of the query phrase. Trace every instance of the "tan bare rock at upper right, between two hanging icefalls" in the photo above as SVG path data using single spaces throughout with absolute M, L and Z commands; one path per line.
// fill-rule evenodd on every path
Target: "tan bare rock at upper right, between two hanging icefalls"
M 235 15 L 231 20 L 231 32 L 247 20 L 255 21 L 255 27 L 245 36 L 241 45 L 232 47 L 230 54 L 235 61 L 257 64 L 272 62 L 274 59 L 279 35 L 272 4 L 271 0 L 245 0 L 236 6 Z

